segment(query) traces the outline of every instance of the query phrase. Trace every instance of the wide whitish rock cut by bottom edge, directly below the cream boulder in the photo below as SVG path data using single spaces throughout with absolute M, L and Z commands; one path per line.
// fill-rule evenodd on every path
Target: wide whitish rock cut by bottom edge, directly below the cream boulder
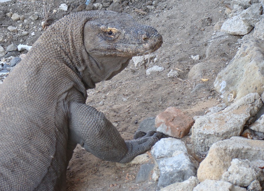
M 241 188 L 232 185 L 229 182 L 215 181 L 215 180 L 205 180 L 198 184 L 193 191 L 205 191 L 205 190 L 217 190 L 217 191 L 246 191 L 246 188 Z

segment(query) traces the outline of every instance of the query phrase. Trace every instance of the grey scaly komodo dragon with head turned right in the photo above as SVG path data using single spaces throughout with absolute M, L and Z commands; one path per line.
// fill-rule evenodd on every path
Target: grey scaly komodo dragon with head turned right
M 121 72 L 162 36 L 128 14 L 87 11 L 43 33 L 0 85 L 0 190 L 65 190 L 77 143 L 102 160 L 129 162 L 161 133 L 124 141 L 86 90 Z

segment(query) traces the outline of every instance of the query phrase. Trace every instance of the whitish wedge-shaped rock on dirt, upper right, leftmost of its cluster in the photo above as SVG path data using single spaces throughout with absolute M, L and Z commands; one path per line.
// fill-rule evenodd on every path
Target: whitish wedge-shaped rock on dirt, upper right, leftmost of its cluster
M 239 16 L 234 16 L 223 23 L 220 31 L 233 35 L 245 35 L 249 33 L 251 29 L 253 29 L 253 26 L 246 25 Z

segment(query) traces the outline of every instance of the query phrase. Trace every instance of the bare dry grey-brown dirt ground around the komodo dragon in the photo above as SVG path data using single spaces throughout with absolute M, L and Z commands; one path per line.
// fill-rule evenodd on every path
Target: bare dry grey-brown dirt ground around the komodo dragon
M 11 42 L 17 45 L 20 43 L 31 45 L 36 41 L 43 33 L 40 25 L 45 21 L 43 2 L 46 2 L 48 9 L 47 1 L 12 0 L 1 4 L 0 37 L 7 40 L 0 42 L 1 46 L 6 48 Z M 69 10 L 50 13 L 51 20 L 48 21 L 50 24 L 64 15 L 85 9 L 84 1 L 51 2 L 51 12 L 62 3 L 68 4 Z M 132 139 L 142 120 L 158 115 L 169 106 L 177 107 L 186 115 L 193 117 L 204 115 L 205 110 L 221 103 L 213 82 L 240 46 L 238 40 L 241 36 L 224 35 L 209 41 L 220 35 L 218 31 L 214 31 L 216 22 L 226 18 L 225 6 L 221 1 L 160 0 L 156 1 L 158 6 L 151 10 L 144 9 L 146 2 L 129 0 L 126 12 L 138 22 L 154 26 L 163 35 L 162 47 L 153 53 L 157 61 L 153 63 L 153 59 L 149 66 L 158 65 L 165 70 L 147 76 L 144 66 L 135 67 L 131 62 L 110 81 L 101 82 L 95 89 L 87 91 L 87 104 L 103 111 L 111 122 L 116 123 L 125 140 Z M 132 6 L 142 8 L 148 14 L 141 15 L 134 11 Z M 24 15 L 28 23 L 12 21 L 5 16 L 9 12 Z M 32 14 L 38 14 L 40 18 L 31 21 L 29 16 Z M 17 26 L 21 31 L 14 35 L 8 32 L 7 26 L 2 25 Z M 29 35 L 19 35 L 23 30 L 28 31 Z M 35 36 L 32 37 L 30 34 L 33 31 Z M 191 55 L 197 54 L 201 59 L 194 61 Z M 205 62 L 209 66 L 203 70 L 203 78 L 209 79 L 208 81 L 188 79 L 190 68 L 199 62 Z M 180 69 L 178 78 L 167 78 L 167 73 L 171 69 Z M 199 83 L 203 83 L 206 88 L 190 95 L 194 84 Z M 190 143 L 189 136 L 182 140 Z M 157 190 L 156 183 L 151 177 L 144 183 L 135 183 L 138 169 L 139 165 L 117 167 L 114 162 L 102 161 L 77 146 L 67 169 L 67 190 Z

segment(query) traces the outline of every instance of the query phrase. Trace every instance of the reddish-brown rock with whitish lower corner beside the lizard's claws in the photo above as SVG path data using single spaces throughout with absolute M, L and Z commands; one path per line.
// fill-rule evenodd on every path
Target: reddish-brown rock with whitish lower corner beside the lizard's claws
M 155 119 L 157 131 L 175 138 L 182 138 L 187 135 L 193 123 L 192 118 L 184 115 L 181 110 L 175 107 L 167 108 Z

